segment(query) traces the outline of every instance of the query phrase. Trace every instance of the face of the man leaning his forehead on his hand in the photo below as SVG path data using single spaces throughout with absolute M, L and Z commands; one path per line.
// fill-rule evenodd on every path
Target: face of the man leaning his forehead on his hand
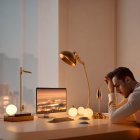
M 119 80 L 116 76 L 114 76 L 112 79 L 112 82 L 113 82 L 114 88 L 116 88 L 117 93 L 120 93 L 125 98 L 129 96 L 129 94 L 131 93 L 131 88 L 130 88 L 129 82 L 126 81 L 126 79 L 122 81 L 122 80 Z

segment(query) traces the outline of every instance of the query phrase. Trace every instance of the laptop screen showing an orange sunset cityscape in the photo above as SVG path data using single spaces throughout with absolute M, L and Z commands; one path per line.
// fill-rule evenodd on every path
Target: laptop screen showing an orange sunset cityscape
M 36 88 L 36 113 L 66 112 L 66 88 Z

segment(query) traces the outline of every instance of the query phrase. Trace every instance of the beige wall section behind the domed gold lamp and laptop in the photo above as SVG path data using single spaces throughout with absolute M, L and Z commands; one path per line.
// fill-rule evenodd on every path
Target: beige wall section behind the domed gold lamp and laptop
M 86 64 L 91 105 L 97 110 L 96 90 L 101 87 L 101 111 L 107 111 L 104 76 L 115 67 L 115 1 L 59 0 L 59 51 L 76 51 Z M 88 88 L 82 65 L 59 60 L 59 87 L 66 87 L 68 108 L 86 106 Z

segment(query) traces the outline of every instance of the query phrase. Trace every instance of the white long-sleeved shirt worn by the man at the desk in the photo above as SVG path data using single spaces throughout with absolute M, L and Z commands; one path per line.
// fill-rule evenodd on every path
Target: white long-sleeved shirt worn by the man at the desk
M 109 118 L 112 123 L 119 123 L 126 120 L 130 115 L 135 116 L 136 122 L 140 123 L 140 85 L 129 95 L 127 103 L 117 109 L 116 96 L 110 93 L 109 97 Z

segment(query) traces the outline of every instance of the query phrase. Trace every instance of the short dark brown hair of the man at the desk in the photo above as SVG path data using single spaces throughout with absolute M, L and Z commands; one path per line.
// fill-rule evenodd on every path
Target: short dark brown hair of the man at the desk
M 125 80 L 126 76 L 129 76 L 132 80 L 136 81 L 133 73 L 126 67 L 118 67 L 107 74 L 107 77 L 109 77 L 110 79 L 112 79 L 114 76 L 116 76 L 119 80 L 122 81 Z

